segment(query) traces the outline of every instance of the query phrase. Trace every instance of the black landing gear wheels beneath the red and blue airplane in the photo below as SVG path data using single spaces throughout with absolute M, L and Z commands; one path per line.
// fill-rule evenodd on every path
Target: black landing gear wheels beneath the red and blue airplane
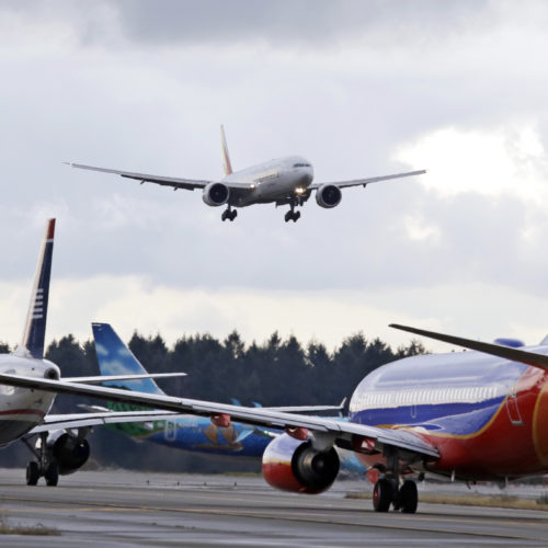
M 385 448 L 386 472 L 373 489 L 373 507 L 375 512 L 393 510 L 404 514 L 414 514 L 419 504 L 419 492 L 413 480 L 404 480 L 400 484 L 398 452 L 392 447 Z

